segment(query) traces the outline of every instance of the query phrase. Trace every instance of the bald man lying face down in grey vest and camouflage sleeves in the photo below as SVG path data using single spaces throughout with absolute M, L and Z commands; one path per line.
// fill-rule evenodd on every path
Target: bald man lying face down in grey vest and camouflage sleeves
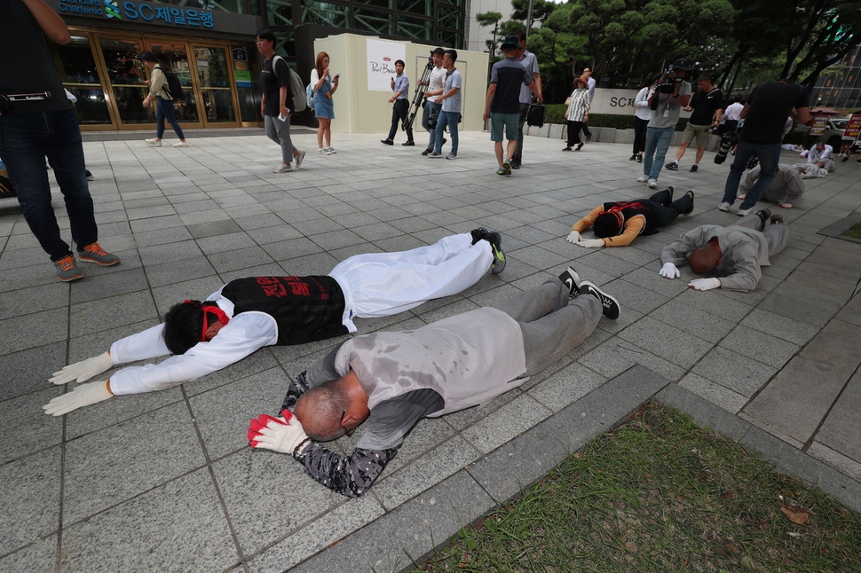
M 279 418 L 251 420 L 251 447 L 290 454 L 317 482 L 359 497 L 418 420 L 481 406 L 519 387 L 585 341 L 602 313 L 615 319 L 619 311 L 612 296 L 569 268 L 498 309 L 356 336 L 296 377 Z M 349 455 L 320 444 L 365 420 L 367 431 Z

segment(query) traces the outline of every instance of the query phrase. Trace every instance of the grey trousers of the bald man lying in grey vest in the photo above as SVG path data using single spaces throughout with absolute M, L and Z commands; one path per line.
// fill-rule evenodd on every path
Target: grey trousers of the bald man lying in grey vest
M 516 294 L 497 308 L 520 324 L 527 376 L 540 373 L 580 346 L 603 314 L 594 296 L 569 301 L 568 287 L 559 279 Z

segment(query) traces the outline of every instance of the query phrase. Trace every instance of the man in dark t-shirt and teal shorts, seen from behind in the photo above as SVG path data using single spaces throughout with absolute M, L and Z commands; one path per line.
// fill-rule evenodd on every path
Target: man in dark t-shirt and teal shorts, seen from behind
M 541 91 L 533 82 L 533 75 L 517 59 L 520 42 L 516 35 L 509 35 L 502 42 L 505 59 L 498 61 L 490 72 L 490 86 L 485 99 L 484 121 L 490 118 L 490 138 L 495 143 L 497 175 L 511 175 L 511 158 L 517 150 L 517 126 L 520 118 L 520 86 L 525 85 L 541 98 Z M 508 146 L 505 161 L 502 161 L 502 130 Z

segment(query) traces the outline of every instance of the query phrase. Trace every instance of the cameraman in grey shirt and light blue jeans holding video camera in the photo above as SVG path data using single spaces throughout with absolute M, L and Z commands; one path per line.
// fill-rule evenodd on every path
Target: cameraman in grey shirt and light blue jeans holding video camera
M 690 71 L 691 65 L 687 59 L 676 59 L 652 85 L 649 96 L 652 119 L 646 127 L 643 175 L 637 177 L 638 182 L 648 183 L 652 189 L 658 188 L 660 168 L 664 165 L 667 149 L 673 140 L 679 113 L 691 101 L 691 83 L 684 81 L 684 76 Z

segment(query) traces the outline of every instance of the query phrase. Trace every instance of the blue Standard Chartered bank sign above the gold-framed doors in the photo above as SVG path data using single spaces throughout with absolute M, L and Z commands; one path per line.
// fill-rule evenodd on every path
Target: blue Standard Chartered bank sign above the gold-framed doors
M 107 22 L 213 28 L 214 12 L 141 0 L 49 0 L 61 16 L 82 16 Z

